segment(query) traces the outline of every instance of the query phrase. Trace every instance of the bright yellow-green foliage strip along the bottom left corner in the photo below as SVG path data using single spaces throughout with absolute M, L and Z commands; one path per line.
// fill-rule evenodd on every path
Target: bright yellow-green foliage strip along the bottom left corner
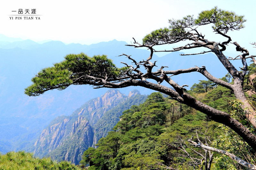
M 70 162 L 54 162 L 50 158 L 38 159 L 24 151 L 0 155 L 1 170 L 81 170 Z

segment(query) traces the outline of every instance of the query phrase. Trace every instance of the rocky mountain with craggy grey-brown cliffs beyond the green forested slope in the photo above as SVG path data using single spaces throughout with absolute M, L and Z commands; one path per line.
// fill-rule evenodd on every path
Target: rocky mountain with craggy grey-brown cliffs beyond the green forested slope
M 101 97 L 89 100 L 70 116 L 60 116 L 45 128 L 34 144 L 34 154 L 51 156 L 78 164 L 83 152 L 105 137 L 119 121 L 124 110 L 146 100 L 138 90 L 128 96 L 111 89 Z

